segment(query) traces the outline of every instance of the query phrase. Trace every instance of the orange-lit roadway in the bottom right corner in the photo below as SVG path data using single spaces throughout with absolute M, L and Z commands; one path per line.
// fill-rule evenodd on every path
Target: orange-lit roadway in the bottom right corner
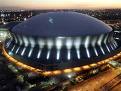
M 112 84 L 116 86 L 118 83 L 120 83 L 119 81 L 120 78 L 121 78 L 121 69 L 112 68 L 105 72 L 101 72 L 95 77 L 85 80 L 82 83 L 70 86 L 68 88 L 68 91 L 110 91 L 107 88 Z

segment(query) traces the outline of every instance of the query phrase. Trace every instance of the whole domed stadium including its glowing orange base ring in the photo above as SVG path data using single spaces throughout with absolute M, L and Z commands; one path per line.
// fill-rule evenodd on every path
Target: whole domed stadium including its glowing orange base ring
M 85 14 L 43 13 L 10 31 L 3 46 L 6 58 L 44 76 L 100 68 L 121 56 L 112 28 Z

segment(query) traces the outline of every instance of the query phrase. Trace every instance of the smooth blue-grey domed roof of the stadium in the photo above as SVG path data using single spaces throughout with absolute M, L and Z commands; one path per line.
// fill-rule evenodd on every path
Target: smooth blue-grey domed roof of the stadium
M 39 37 L 97 35 L 111 30 L 102 21 L 76 12 L 39 14 L 12 29 L 17 34 Z

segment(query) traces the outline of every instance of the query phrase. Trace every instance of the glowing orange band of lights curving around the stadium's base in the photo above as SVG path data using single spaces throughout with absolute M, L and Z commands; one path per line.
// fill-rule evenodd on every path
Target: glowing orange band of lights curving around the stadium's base
M 89 70 L 91 69 L 92 67 L 96 67 L 97 65 L 103 65 L 103 64 L 106 64 L 107 62 L 109 61 L 112 61 L 112 60 L 115 60 L 117 58 L 121 58 L 121 52 L 120 53 L 117 53 L 116 55 L 108 58 L 108 59 L 105 59 L 105 60 L 102 60 L 100 62 L 97 62 L 97 63 L 92 63 L 90 65 L 84 65 L 84 66 L 81 66 L 81 67 L 74 67 L 74 68 L 68 68 L 68 69 L 63 69 L 63 70 L 54 70 L 54 71 L 45 71 L 45 70 L 41 70 L 41 69 L 37 69 L 37 68 L 34 68 L 34 67 L 31 67 L 29 65 L 26 65 L 24 63 L 21 63 L 20 61 L 16 60 L 15 58 L 11 57 L 6 51 L 5 51 L 5 48 L 3 47 L 3 54 L 4 56 L 12 63 L 16 64 L 17 66 L 20 66 L 22 67 L 23 69 L 27 69 L 27 70 L 30 70 L 32 72 L 35 72 L 35 73 L 38 73 L 38 74 L 41 74 L 43 76 L 52 76 L 52 75 L 60 75 L 60 74 L 64 74 L 64 73 L 71 73 L 71 72 L 80 72 L 82 70 Z

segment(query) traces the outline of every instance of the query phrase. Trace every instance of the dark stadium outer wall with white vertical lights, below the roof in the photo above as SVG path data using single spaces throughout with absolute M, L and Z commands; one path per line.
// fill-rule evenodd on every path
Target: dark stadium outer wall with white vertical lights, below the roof
M 80 37 L 29 37 L 12 34 L 5 43 L 8 54 L 44 70 L 65 69 L 98 62 L 118 48 L 112 32 Z M 101 59 L 102 60 L 102 59 Z

